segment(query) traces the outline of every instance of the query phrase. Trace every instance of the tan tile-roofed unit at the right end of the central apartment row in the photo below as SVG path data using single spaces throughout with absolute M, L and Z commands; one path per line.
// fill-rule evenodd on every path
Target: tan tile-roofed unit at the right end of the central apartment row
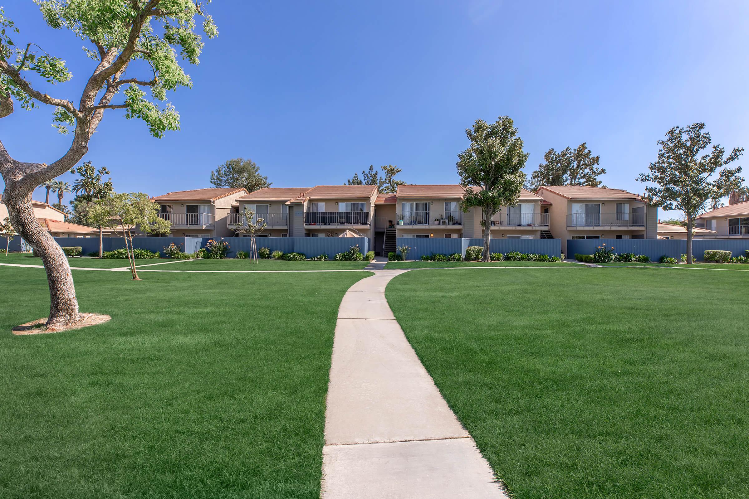
M 549 224 L 562 239 L 657 239 L 658 209 L 640 195 L 589 186 L 542 186 L 536 194 L 553 206 Z

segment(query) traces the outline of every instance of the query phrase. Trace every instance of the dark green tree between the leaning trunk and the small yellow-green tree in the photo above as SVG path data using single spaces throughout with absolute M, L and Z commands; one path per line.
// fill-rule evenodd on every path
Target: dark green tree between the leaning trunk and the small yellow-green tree
M 74 224 L 88 225 L 99 229 L 99 257 L 101 258 L 104 246 L 103 223 L 100 219 L 92 219 L 89 216 L 88 208 L 95 200 L 100 200 L 111 195 L 112 178 L 104 180 L 104 175 L 109 175 L 109 170 L 101 167 L 98 170 L 91 165 L 90 161 L 83 163 L 78 168 L 70 170 L 71 174 L 79 174 L 79 179 L 73 183 L 73 193 L 76 195 L 70 204 L 73 206 L 73 217 L 71 221 Z

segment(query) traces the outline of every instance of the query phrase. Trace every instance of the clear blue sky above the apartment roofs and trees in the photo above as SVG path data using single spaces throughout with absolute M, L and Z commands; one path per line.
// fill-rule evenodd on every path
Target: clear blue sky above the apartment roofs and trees
M 216 0 L 207 8 L 219 37 L 207 40 L 199 66 L 188 65 L 192 90 L 169 95 L 181 131 L 158 140 L 107 111 L 91 140 L 85 159 L 106 165 L 118 192 L 207 187 L 210 170 L 239 156 L 277 187 L 339 184 L 370 164 L 398 165 L 407 183 L 457 183 L 464 129 L 504 114 L 520 129 L 529 174 L 549 148 L 586 141 L 607 168 L 604 183 L 633 192 L 643 192 L 635 177 L 670 126 L 704 121 L 714 142 L 749 147 L 746 2 Z M 31 1 L 6 3 L 5 12 L 21 29 L 16 43 L 67 60 L 73 80 L 50 92 L 77 101 L 93 68 L 82 41 L 47 28 Z M 51 113 L 17 109 L 0 120 L 13 157 L 49 163 L 66 150 L 70 137 L 52 129 Z

